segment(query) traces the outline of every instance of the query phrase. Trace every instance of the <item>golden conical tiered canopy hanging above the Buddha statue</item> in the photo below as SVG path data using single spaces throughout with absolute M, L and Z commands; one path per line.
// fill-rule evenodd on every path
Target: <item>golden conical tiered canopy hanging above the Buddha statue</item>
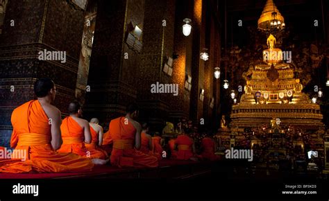
M 285 19 L 278 8 L 276 8 L 273 0 L 267 0 L 262 15 L 260 15 L 260 19 L 258 19 L 258 28 L 261 30 L 270 30 L 273 26 L 284 27 Z

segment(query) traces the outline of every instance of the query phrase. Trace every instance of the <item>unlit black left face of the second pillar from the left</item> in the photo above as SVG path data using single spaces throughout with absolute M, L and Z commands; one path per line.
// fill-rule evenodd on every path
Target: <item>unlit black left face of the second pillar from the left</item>
M 124 59 L 126 3 L 127 1 L 99 1 L 97 5 L 87 82 L 90 91 L 85 97 L 85 117 L 98 117 L 99 121 L 105 122 L 104 125 L 108 125 L 110 119 L 124 112 L 124 101 L 119 102 L 119 98 L 125 98 L 126 101 L 136 98 L 136 89 L 120 79 Z M 133 54 L 128 56 L 133 60 Z

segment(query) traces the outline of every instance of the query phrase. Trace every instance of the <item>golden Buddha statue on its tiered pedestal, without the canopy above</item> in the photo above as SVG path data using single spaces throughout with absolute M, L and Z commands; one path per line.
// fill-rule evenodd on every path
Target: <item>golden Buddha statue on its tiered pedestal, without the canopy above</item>
M 239 128 L 258 126 L 271 122 L 277 128 L 276 118 L 284 118 L 285 122 L 298 125 L 323 125 L 319 105 L 312 105 L 310 98 L 302 92 L 303 85 L 294 75 L 294 66 L 289 63 L 289 51 L 276 48 L 276 37 L 267 37 L 267 46 L 262 53 L 263 62 L 249 66 L 242 74 L 246 80 L 244 94 L 239 105 L 233 105 L 230 125 Z M 273 57 L 274 55 L 274 57 Z M 287 57 L 288 55 L 288 57 Z M 287 60 L 287 62 L 283 62 Z M 256 93 L 259 96 L 256 96 Z M 298 119 L 298 120 L 297 120 Z M 225 121 L 221 127 L 226 128 Z

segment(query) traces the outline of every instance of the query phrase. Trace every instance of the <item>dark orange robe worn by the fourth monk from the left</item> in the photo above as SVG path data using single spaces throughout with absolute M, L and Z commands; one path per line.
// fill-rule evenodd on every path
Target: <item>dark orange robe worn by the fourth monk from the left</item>
M 113 150 L 110 157 L 113 166 L 157 167 L 158 159 L 135 150 L 136 129 L 132 123 L 125 124 L 124 116 L 110 122 Z

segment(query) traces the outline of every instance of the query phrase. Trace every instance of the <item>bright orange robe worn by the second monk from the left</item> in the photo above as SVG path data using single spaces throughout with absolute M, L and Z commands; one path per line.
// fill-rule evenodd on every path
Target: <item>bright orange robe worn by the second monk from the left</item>
M 63 143 L 58 152 L 75 153 L 91 159 L 105 159 L 103 152 L 85 147 L 85 132 L 71 116 L 63 119 L 60 130 Z

